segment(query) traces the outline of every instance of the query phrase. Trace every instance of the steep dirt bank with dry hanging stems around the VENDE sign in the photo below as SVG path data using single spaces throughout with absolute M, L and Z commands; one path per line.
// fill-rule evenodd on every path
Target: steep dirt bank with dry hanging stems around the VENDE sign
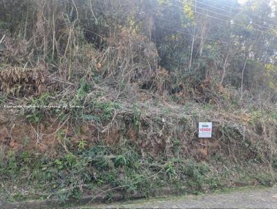
M 125 138 L 136 143 L 142 153 L 148 152 L 152 156 L 181 154 L 199 160 L 217 154 L 234 160 L 257 157 L 267 160 L 269 153 L 276 152 L 272 138 L 276 126 L 267 129 L 269 124 L 262 123 L 264 120 L 253 124 L 246 114 L 204 110 L 195 114 L 177 107 L 172 107 L 170 113 L 164 113 L 161 107 L 147 111 L 142 108 L 139 118 L 134 111 L 114 111 L 112 119 L 101 127 L 94 121 L 76 124 L 69 118 L 62 121 L 44 118 L 42 122 L 33 123 L 24 116 L 19 117 L 15 113 L 12 116 L 8 111 L 2 111 L 0 143 L 10 149 L 36 150 L 55 155 L 57 146 L 66 149 L 66 143 L 74 146 L 84 140 L 87 147 L 91 147 L 100 142 L 113 145 L 120 138 Z M 213 121 L 212 138 L 197 137 L 199 121 Z

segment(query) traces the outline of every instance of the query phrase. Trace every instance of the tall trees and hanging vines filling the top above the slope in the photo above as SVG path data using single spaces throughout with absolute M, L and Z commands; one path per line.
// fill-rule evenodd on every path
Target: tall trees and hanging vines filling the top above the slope
M 21 60 L 2 56 L 1 67 L 43 63 L 72 80 L 90 51 L 103 55 L 100 77 L 113 72 L 114 82 L 141 89 L 157 90 L 163 69 L 169 94 L 204 85 L 275 94 L 276 8 L 270 0 L 3 0 L 0 35 L 25 48 Z

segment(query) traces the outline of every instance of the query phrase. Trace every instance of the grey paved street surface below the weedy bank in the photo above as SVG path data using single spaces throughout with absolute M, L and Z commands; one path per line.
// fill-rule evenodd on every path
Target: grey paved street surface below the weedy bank
M 98 205 L 93 208 L 277 208 L 277 188 L 247 188 L 202 196 Z

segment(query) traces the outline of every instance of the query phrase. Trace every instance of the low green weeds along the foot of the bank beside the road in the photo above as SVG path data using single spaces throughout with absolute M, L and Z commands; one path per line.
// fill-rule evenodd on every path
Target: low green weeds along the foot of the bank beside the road
M 160 156 L 155 160 L 151 156 L 142 158 L 138 149 L 133 148 L 136 145 L 120 143 L 120 147 L 94 145 L 54 158 L 31 152 L 8 152 L 0 164 L 7 192 L 3 195 L 9 201 L 48 197 L 66 201 L 80 199 L 82 194 L 96 195 L 98 190 L 109 197 L 110 192 L 120 190 L 128 199 L 132 192 L 148 196 L 162 187 L 198 194 L 230 185 L 255 185 L 257 180 L 262 185 L 271 185 L 276 180 L 264 167 L 260 167 L 260 174 L 256 170 L 258 164 L 251 162 L 232 167 L 230 162 L 218 158 L 208 163 L 182 157 L 161 160 Z

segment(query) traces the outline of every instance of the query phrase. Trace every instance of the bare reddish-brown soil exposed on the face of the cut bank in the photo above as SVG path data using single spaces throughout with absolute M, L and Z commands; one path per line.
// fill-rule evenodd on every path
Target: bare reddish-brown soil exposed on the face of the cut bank
M 100 141 L 107 145 L 115 145 L 121 136 L 136 143 L 152 156 L 157 156 L 167 146 L 166 137 L 150 137 L 150 127 L 135 129 L 132 125 L 125 124 L 127 131 L 121 133 L 120 127 L 116 124 L 102 131 L 89 122 L 72 125 L 69 121 L 59 122 L 57 119 L 47 118 L 44 122 L 31 123 L 24 117 L 11 118 L 4 111 L 0 113 L 0 118 L 0 145 L 15 151 L 35 150 L 55 155 L 57 152 L 55 146 L 62 145 L 61 140 L 65 138 L 70 138 L 73 146 L 78 145 L 80 140 L 86 140 L 87 145 L 91 147 Z M 170 135 L 167 132 L 166 134 Z M 179 129 L 177 133 L 177 138 L 181 140 L 179 146 L 186 154 L 190 153 L 204 159 L 220 149 L 216 139 L 197 139 L 195 143 L 190 143 L 190 140 L 184 138 L 186 134 L 186 129 Z

